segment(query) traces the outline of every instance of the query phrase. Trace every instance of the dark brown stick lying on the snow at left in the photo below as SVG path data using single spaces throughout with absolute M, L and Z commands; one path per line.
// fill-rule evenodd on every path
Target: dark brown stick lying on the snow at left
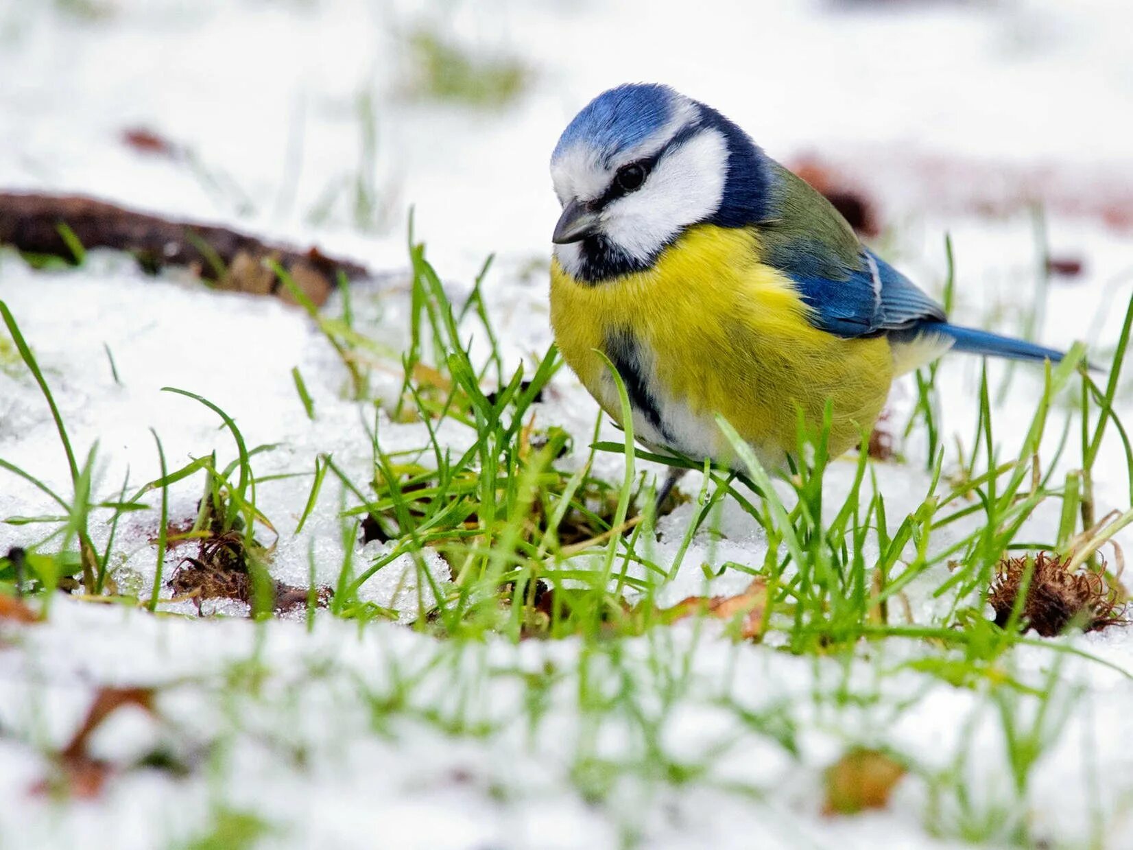
M 369 274 L 358 263 L 327 256 L 317 247 L 297 250 L 230 228 L 177 221 L 79 195 L 0 192 L 0 245 L 70 258 L 60 224 L 85 248 L 125 250 L 146 270 L 187 266 L 222 287 L 284 300 L 291 300 L 290 294 L 263 269 L 263 261 L 282 265 L 316 305 L 325 303 L 340 272 L 351 280 Z

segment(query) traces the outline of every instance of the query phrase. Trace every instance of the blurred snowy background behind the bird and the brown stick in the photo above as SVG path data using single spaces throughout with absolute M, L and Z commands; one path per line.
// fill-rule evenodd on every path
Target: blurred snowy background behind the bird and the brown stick
M 1059 233 L 1124 239 L 1131 26 L 1125 0 L 2 0 L 0 187 L 378 269 L 403 265 L 414 206 L 450 277 L 491 252 L 534 271 L 560 131 L 599 91 L 658 80 L 876 239 L 937 245 L 1036 203 Z

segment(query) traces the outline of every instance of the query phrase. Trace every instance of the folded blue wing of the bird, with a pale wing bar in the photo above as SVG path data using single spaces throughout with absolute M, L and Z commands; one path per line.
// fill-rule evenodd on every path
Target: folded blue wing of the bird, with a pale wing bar
M 838 337 L 875 337 L 947 320 L 939 304 L 874 252 L 863 248 L 859 260 L 843 280 L 787 270 L 816 328 Z

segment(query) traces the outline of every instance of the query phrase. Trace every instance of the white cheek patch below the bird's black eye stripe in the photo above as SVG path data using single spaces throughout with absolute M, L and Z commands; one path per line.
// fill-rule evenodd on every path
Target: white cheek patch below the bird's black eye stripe
M 705 130 L 670 151 L 637 192 L 602 213 L 603 230 L 634 260 L 647 262 L 682 228 L 719 209 L 727 172 L 727 143 Z

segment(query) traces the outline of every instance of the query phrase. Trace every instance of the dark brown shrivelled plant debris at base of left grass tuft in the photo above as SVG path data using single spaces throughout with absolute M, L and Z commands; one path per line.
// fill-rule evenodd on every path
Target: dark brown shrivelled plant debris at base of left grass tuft
M 196 558 L 181 561 L 169 586 L 177 596 L 193 598 L 197 611 L 203 600 L 236 600 L 253 605 L 257 592 L 271 593 L 272 610 L 276 613 L 307 606 L 307 588 L 276 581 L 266 572 L 262 572 L 261 584 L 248 560 L 247 546 L 239 533 L 218 534 L 201 541 Z M 316 587 L 315 604 L 325 607 L 332 595 L 330 587 Z

